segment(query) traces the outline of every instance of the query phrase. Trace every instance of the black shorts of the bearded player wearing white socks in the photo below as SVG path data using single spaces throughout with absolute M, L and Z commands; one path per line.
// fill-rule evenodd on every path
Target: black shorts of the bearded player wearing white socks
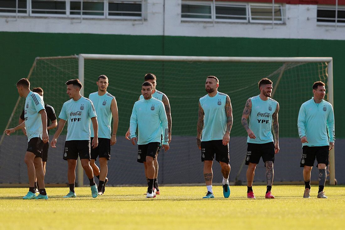
M 223 140 L 201 141 L 201 161 L 221 161 L 230 163 L 229 144 L 224 145 Z

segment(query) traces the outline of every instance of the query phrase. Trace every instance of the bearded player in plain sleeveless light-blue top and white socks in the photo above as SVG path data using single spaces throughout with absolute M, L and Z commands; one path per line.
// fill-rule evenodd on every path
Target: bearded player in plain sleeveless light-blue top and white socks
M 207 94 L 199 99 L 199 118 L 197 124 L 197 145 L 204 162 L 204 178 L 207 193 L 203 198 L 214 198 L 212 190 L 212 164 L 216 154 L 223 174 L 223 195 L 230 196 L 229 173 L 229 139 L 233 125 L 233 112 L 230 97 L 218 92 L 219 80 L 208 76 L 205 83 Z M 202 133 L 202 136 L 201 136 Z

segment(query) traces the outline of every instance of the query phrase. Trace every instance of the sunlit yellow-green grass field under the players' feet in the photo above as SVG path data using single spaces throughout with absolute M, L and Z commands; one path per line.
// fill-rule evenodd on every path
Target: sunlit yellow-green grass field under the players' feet
M 0 189 L 0 229 L 344 229 L 345 187 L 326 187 L 328 199 L 303 199 L 304 186 L 274 186 L 276 199 L 264 199 L 265 186 L 231 186 L 230 198 L 214 186 L 216 199 L 201 199 L 205 186 L 161 187 L 146 199 L 145 187 L 108 187 L 96 199 L 90 188 L 48 188 L 49 200 L 22 200 L 25 188 Z

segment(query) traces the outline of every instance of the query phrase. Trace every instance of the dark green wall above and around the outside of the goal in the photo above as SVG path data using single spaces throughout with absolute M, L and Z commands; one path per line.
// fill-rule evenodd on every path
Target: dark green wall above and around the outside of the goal
M 345 137 L 341 105 L 344 96 L 345 41 L 302 39 L 210 38 L 0 32 L 3 130 L 18 98 L 14 84 L 26 77 L 35 57 L 79 53 L 185 56 L 333 57 L 336 137 Z M 298 89 L 292 88 L 292 94 Z

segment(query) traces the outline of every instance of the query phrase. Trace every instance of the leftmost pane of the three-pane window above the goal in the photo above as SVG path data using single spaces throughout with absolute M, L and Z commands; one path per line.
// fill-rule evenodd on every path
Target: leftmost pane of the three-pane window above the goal
M 212 19 L 211 3 L 183 2 L 181 5 L 181 18 L 183 20 L 209 21 Z

